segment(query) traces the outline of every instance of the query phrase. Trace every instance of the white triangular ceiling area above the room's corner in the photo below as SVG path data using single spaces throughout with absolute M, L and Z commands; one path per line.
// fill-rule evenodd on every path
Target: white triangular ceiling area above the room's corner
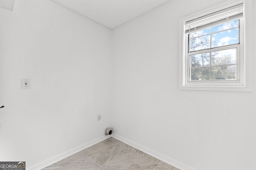
M 114 29 L 169 0 L 52 0 L 100 25 Z

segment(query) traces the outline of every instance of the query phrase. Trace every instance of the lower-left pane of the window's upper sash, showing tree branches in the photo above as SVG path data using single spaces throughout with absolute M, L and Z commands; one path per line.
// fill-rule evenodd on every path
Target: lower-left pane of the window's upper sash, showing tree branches
M 190 39 L 190 51 L 210 48 L 210 35 Z

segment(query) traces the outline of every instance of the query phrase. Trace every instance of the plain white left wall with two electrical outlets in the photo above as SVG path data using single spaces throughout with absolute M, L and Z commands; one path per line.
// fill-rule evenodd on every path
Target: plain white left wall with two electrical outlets
M 0 8 L 0 161 L 31 167 L 104 136 L 110 42 L 110 29 L 50 0 Z

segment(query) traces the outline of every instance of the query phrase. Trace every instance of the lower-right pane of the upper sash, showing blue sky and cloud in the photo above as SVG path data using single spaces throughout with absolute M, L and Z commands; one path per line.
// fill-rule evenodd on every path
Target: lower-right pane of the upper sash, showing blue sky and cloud
M 212 34 L 212 47 L 238 43 L 238 28 Z

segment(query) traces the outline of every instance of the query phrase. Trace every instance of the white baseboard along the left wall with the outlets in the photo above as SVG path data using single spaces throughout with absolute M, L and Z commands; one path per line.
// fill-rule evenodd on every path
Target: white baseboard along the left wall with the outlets
M 90 141 L 88 143 L 85 143 L 79 147 L 76 147 L 74 149 L 70 149 L 66 152 L 63 152 L 61 154 L 58 154 L 56 156 L 53 156 L 52 158 L 49 158 L 49 159 L 46 159 L 46 160 L 43 160 L 42 162 L 39 162 L 38 164 L 35 164 L 35 165 L 32 165 L 32 166 L 29 166 L 29 167 L 26 167 L 27 170 L 40 170 L 42 168 L 45 168 L 46 166 L 49 166 L 55 162 L 58 162 L 59 160 L 62 160 L 72 154 L 75 154 L 76 152 L 79 152 L 81 150 L 84 150 L 92 145 L 95 145 L 96 143 L 99 143 L 101 141 L 104 141 L 105 139 L 108 139 L 110 137 L 110 135 L 108 136 L 102 136 L 98 139 L 95 139 L 93 141 Z

